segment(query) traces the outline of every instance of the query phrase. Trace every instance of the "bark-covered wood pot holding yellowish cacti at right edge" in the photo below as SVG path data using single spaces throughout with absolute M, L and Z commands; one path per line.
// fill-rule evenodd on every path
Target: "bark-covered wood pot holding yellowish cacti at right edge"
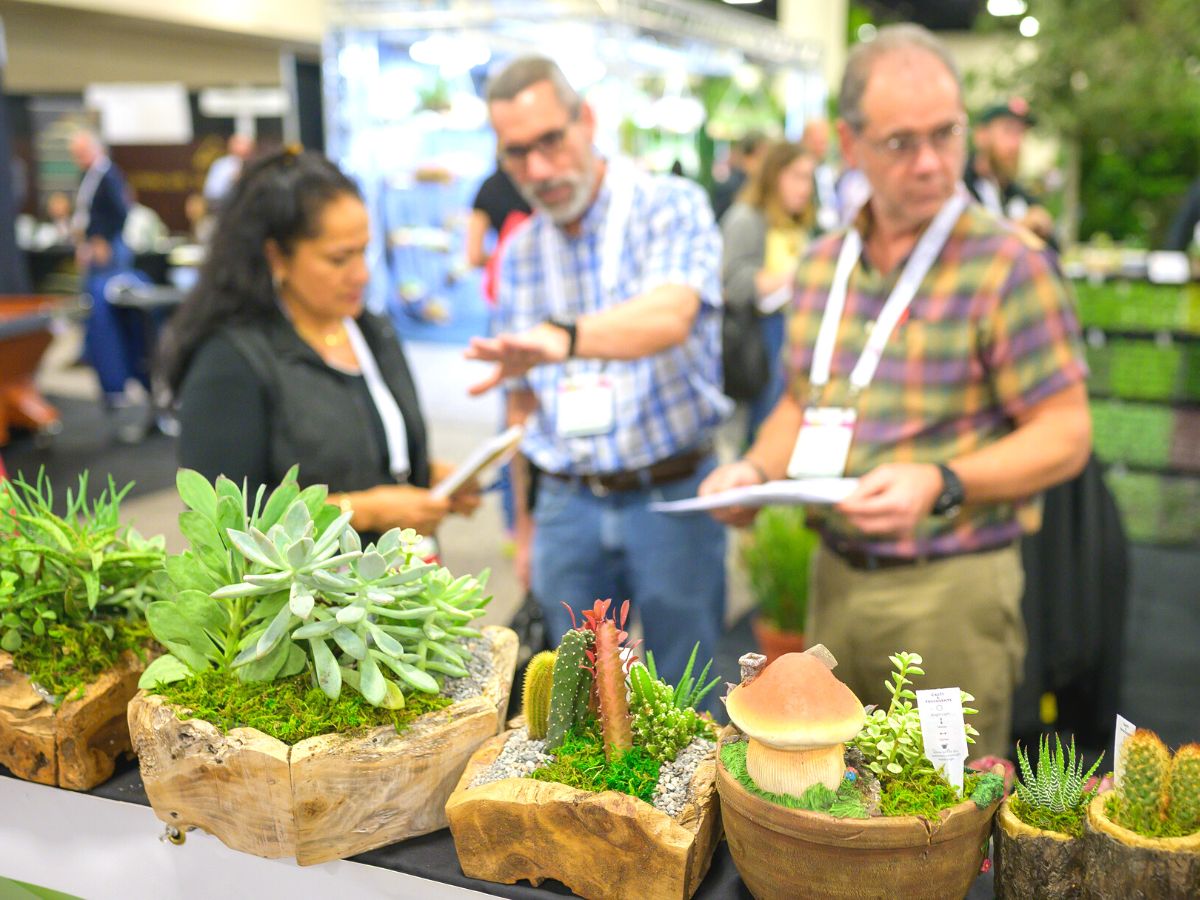
M 1200 833 L 1142 838 L 1108 817 L 1108 797 L 1098 794 L 1087 808 L 1084 895 L 1097 900 L 1200 896 Z

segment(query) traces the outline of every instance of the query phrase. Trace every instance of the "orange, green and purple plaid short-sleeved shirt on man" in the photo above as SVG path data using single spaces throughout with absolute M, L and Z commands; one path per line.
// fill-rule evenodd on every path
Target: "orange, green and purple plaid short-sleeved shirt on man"
M 869 227 L 864 214 L 859 228 Z M 809 373 L 821 314 L 845 233 L 802 259 L 788 331 L 791 390 L 812 402 Z M 888 275 L 865 254 L 850 277 L 829 384 L 820 406 L 858 410 L 847 476 L 886 462 L 949 462 L 995 443 L 1042 400 L 1087 377 L 1079 320 L 1057 266 L 1027 232 L 970 205 L 925 275 L 859 397 L 850 372 L 904 264 Z M 827 538 L 877 556 L 949 556 L 1001 546 L 1021 534 L 1019 504 L 968 504 L 953 518 L 929 517 L 914 539 L 877 541 L 835 515 L 815 515 Z M 1036 510 L 1031 510 L 1036 512 Z M 1036 515 L 1021 516 L 1026 523 Z

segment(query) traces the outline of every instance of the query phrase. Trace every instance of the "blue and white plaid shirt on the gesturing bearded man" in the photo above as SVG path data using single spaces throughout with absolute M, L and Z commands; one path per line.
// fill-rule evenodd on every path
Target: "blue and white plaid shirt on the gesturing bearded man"
M 602 296 L 600 256 L 612 193 L 608 178 L 583 215 L 577 236 L 559 232 L 564 298 L 546 292 L 542 229 L 538 214 L 504 245 L 499 264 L 498 326 L 524 331 L 550 317 L 575 319 L 664 284 L 686 284 L 701 299 L 691 334 L 676 347 L 636 360 L 568 360 L 538 366 L 521 379 L 539 412 L 527 425 L 522 450 L 557 474 L 605 474 L 637 469 L 696 446 L 728 409 L 721 394 L 721 238 L 708 197 L 680 178 L 643 176 L 634 192 L 622 246 L 617 289 Z M 607 434 L 562 438 L 557 433 L 558 385 L 564 377 L 604 372 L 614 385 L 616 426 Z

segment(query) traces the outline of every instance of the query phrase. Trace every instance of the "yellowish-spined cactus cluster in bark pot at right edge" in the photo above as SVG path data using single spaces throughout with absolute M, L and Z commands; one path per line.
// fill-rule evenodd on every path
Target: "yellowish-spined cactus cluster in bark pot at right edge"
M 1124 744 L 1124 767 L 1105 811 L 1146 838 L 1200 832 L 1200 744 L 1171 751 L 1152 731 L 1138 728 Z

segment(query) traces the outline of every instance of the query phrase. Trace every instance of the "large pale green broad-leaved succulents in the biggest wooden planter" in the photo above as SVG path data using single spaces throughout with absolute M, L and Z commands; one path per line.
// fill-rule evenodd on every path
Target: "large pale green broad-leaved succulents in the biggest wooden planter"
M 420 536 L 392 529 L 362 546 L 350 514 L 301 490 L 293 468 L 253 500 L 233 481 L 176 478 L 191 546 L 167 559 L 176 595 L 146 618 L 170 653 L 142 678 L 154 688 L 217 672 L 271 682 L 308 672 L 330 700 L 344 686 L 370 704 L 404 706 L 443 677 L 467 674 L 464 640 L 484 614 L 484 578 L 454 578 L 415 553 Z

